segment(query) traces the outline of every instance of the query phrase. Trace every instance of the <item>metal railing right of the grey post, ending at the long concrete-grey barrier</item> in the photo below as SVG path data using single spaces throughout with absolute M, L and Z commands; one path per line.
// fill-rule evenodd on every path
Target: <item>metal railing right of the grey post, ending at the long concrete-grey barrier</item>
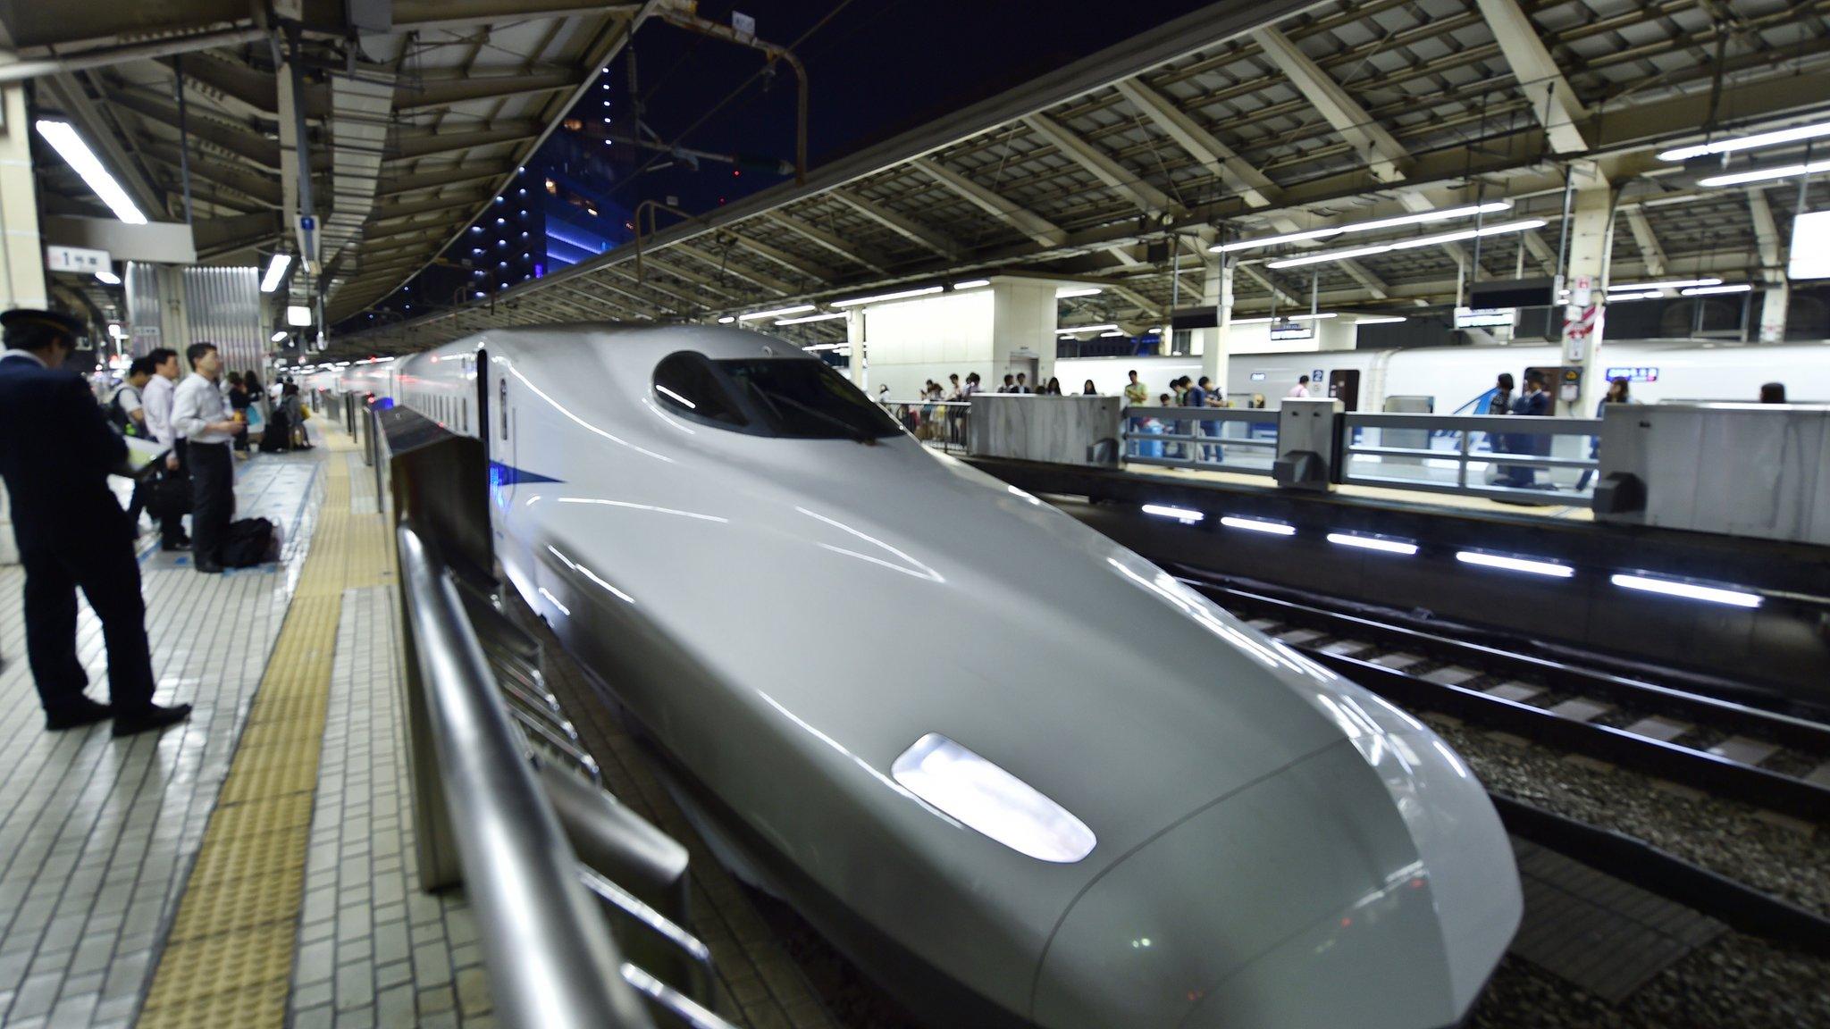
M 1594 496 L 1601 421 L 1488 414 L 1349 414 L 1343 483 L 1495 500 Z

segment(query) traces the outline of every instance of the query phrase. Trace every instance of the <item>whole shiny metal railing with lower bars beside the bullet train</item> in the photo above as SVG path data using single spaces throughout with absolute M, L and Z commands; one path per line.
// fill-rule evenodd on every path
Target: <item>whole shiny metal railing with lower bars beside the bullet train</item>
M 498 1022 L 728 1029 L 706 1007 L 710 950 L 684 928 L 686 850 L 595 782 L 536 756 L 556 751 L 595 773 L 576 760 L 553 694 L 525 674 L 538 643 L 500 612 L 478 623 L 489 597 L 461 584 L 412 524 L 395 536 L 421 881 L 463 883 Z M 522 681 L 501 681 L 505 663 Z

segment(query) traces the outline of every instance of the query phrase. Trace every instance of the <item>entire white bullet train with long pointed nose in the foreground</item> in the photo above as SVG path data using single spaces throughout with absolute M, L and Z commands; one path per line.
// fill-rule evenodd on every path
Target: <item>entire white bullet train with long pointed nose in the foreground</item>
M 933 1025 L 1440 1029 L 1519 926 L 1437 734 L 794 346 L 544 326 L 346 381 L 485 441 L 507 579 Z

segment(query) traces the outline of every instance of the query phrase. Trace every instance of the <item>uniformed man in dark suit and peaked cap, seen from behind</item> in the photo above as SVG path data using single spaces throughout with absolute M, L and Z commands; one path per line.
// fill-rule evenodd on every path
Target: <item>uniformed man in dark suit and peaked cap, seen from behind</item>
M 13 538 L 26 566 L 26 652 L 46 729 L 113 718 L 115 736 L 161 729 L 190 705 L 152 703 L 146 604 L 139 595 L 134 525 L 108 491 L 126 441 L 88 383 L 60 368 L 81 322 L 51 311 L 0 313 L 0 478 L 13 500 Z M 86 696 L 77 661 L 77 588 L 102 623 L 108 699 Z

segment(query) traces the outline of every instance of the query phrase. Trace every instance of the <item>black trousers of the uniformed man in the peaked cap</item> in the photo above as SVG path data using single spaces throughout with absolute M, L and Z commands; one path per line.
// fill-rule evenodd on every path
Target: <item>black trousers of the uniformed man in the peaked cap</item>
M 139 560 L 126 531 L 99 533 L 20 553 L 26 566 L 26 655 L 46 714 L 71 710 L 90 685 L 77 661 L 77 588 L 102 623 L 108 644 L 108 701 L 121 712 L 152 703 L 152 654 Z

